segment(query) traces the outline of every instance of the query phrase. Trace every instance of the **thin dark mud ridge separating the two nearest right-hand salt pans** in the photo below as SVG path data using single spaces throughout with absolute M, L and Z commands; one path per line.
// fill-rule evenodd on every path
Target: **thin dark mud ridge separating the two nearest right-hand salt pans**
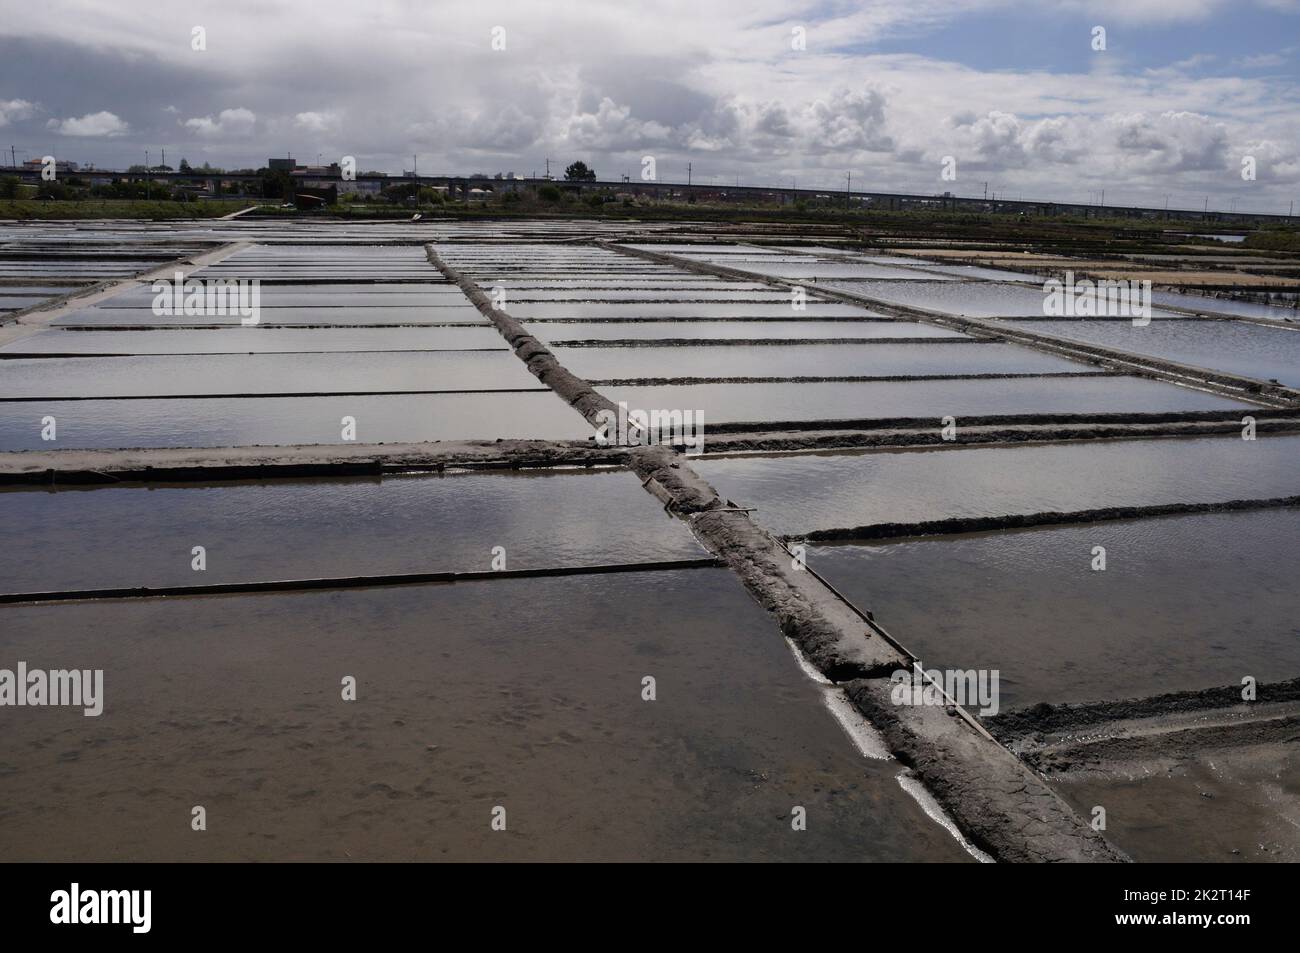
M 1110 506 L 1100 510 L 1074 510 L 1071 512 L 1011 514 L 1008 516 L 954 516 L 946 520 L 923 523 L 872 523 L 845 529 L 815 529 L 798 537 L 807 542 L 897 540 L 915 536 L 949 536 L 953 533 L 984 533 L 996 529 L 1053 527 L 1074 523 L 1105 523 L 1110 520 L 1141 520 L 1156 516 L 1184 514 L 1238 512 L 1244 510 L 1270 510 L 1300 506 L 1300 497 L 1274 497 L 1271 499 L 1230 499 L 1222 503 L 1162 503 L 1157 506 Z

